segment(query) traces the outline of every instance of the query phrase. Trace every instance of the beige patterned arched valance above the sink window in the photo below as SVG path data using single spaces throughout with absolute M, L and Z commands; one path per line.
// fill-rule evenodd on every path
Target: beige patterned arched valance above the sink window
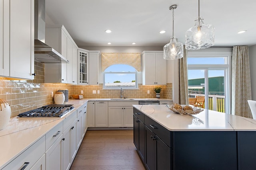
M 102 72 L 114 64 L 128 64 L 141 72 L 140 53 L 101 53 Z

